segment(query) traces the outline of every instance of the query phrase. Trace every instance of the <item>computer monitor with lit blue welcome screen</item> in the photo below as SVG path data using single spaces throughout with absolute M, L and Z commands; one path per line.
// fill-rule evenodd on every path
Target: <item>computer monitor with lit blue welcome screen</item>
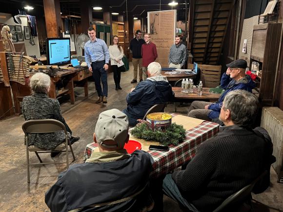
M 71 60 L 70 39 L 47 38 L 46 53 L 48 65 L 69 64 Z

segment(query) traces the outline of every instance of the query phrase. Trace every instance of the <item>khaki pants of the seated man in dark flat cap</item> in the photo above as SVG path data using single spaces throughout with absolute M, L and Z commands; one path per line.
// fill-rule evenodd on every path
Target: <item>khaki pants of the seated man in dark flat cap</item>
M 205 105 L 211 105 L 212 102 L 207 101 L 193 101 L 188 111 L 188 116 L 192 118 L 199 118 L 206 121 L 211 121 L 208 114 L 212 111 L 204 109 Z

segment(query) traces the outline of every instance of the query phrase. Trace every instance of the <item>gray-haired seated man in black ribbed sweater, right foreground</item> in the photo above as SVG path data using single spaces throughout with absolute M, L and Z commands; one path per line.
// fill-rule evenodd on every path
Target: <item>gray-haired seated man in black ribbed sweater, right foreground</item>
M 250 129 L 257 114 L 257 97 L 244 90 L 231 91 L 220 106 L 219 118 L 225 126 L 202 142 L 185 170 L 167 174 L 163 180 L 163 192 L 191 211 L 213 211 L 269 171 L 275 161 L 268 133 L 261 127 Z M 264 180 L 261 192 L 269 186 L 269 173 Z

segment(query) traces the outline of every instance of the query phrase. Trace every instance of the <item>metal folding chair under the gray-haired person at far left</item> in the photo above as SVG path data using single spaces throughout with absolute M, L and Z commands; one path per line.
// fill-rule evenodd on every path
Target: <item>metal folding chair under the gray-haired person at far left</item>
M 75 154 L 72 149 L 72 145 L 67 135 L 66 128 L 61 121 L 55 119 L 37 119 L 37 120 L 29 120 L 25 121 L 22 124 L 22 130 L 24 132 L 24 144 L 26 145 L 26 162 L 27 162 L 27 182 L 30 183 L 30 173 L 29 167 L 31 165 L 44 165 L 44 164 L 57 164 L 57 163 L 66 163 L 67 169 L 69 168 L 69 158 L 68 152 L 71 152 L 73 155 L 73 161 L 76 160 Z M 63 130 L 65 133 L 65 142 L 61 143 L 56 147 L 54 151 L 48 151 L 45 149 L 37 148 L 34 145 L 28 146 L 28 134 L 40 134 L 40 133 L 54 133 L 57 131 Z M 70 151 L 68 150 L 68 145 L 70 147 Z M 40 153 L 52 153 L 52 152 L 66 152 L 66 161 L 62 162 L 42 162 L 39 154 Z M 39 158 L 40 163 L 30 163 L 29 162 L 29 152 L 35 152 L 37 157 Z

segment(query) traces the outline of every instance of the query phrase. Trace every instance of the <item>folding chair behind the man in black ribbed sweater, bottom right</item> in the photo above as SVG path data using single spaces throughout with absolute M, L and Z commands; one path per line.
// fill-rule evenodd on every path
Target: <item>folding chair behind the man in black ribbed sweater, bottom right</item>
M 231 196 L 229 196 L 227 199 L 225 199 L 222 204 L 215 209 L 213 212 L 226 212 L 226 211 L 230 211 L 227 210 L 227 207 L 232 207 L 234 210 L 237 210 L 237 206 L 241 207 L 242 204 L 246 201 L 246 200 L 251 200 L 251 192 L 255 186 L 255 184 L 257 182 L 259 182 L 264 175 L 267 173 L 267 171 L 263 172 L 258 178 L 256 178 L 252 183 L 250 183 L 249 185 L 243 187 L 243 189 L 241 189 L 240 191 L 232 194 Z M 235 208 L 236 207 L 236 208 Z M 233 210 L 233 211 L 234 211 Z

